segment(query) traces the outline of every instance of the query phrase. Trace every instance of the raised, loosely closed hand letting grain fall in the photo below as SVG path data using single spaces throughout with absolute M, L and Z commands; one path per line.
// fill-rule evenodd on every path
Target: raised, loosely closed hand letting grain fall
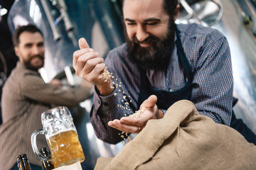
M 85 38 L 80 38 L 78 41 L 80 50 L 73 54 L 73 67 L 75 73 L 95 84 L 98 91 L 102 96 L 107 96 L 114 91 L 111 89 L 112 81 L 110 77 L 104 77 L 103 72 L 105 69 L 104 60 L 100 57 L 98 52 L 95 52 L 89 47 Z M 108 81 L 105 81 L 108 79 Z

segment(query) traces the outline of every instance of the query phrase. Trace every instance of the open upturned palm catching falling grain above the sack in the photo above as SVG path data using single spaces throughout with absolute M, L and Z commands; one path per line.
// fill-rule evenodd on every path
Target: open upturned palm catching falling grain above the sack
M 140 106 L 140 110 L 143 111 L 145 109 L 145 111 L 139 118 L 122 117 L 120 120 L 110 121 L 108 125 L 123 132 L 138 133 L 145 127 L 148 120 L 164 117 L 163 113 L 158 110 L 156 101 L 156 96 L 151 95 Z

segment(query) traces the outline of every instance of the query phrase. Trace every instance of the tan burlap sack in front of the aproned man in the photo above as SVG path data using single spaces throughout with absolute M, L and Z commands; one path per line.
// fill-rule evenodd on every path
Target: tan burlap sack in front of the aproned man
M 256 146 L 183 100 L 149 120 L 115 157 L 97 159 L 95 170 L 102 169 L 256 169 Z

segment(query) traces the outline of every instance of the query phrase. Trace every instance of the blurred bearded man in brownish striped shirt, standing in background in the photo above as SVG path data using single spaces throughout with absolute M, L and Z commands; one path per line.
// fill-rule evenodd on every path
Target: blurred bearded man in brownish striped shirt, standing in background
M 16 157 L 27 154 L 31 169 L 42 169 L 41 160 L 31 147 L 31 134 L 43 128 L 41 113 L 55 106 L 78 106 L 90 96 L 88 84 L 63 90 L 60 80 L 43 81 L 38 69 L 43 67 L 43 34 L 36 26 L 20 26 L 14 31 L 14 50 L 19 62 L 6 80 L 1 96 L 3 124 L 0 126 L 0 167 L 18 169 Z M 37 137 L 38 148 L 47 147 L 43 135 Z

